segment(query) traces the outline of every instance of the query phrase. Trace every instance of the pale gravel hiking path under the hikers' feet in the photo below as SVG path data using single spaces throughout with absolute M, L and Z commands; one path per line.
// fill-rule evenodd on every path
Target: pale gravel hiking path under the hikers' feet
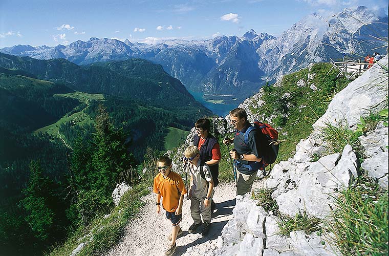
M 254 187 L 258 186 L 254 182 Z M 215 188 L 214 201 L 217 209 L 214 210 L 211 220 L 211 229 L 207 237 L 200 233 L 188 233 L 193 223 L 190 217 L 190 201 L 184 199 L 182 207 L 181 228 L 183 236 L 177 239 L 177 249 L 174 255 L 212 255 L 218 238 L 226 223 L 232 218 L 232 209 L 235 206 L 235 184 L 220 183 Z M 138 217 L 125 228 L 120 243 L 106 256 L 120 255 L 164 255 L 171 232 L 171 223 L 166 219 L 165 211 L 158 215 L 155 206 L 155 195 L 149 194 L 143 199 L 145 203 Z M 199 230 L 201 227 L 199 228 Z

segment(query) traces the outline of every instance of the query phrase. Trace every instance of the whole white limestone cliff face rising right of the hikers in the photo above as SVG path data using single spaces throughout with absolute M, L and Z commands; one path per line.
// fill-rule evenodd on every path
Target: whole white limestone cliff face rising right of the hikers
M 276 164 L 265 181 L 273 189 L 273 199 L 282 214 L 295 216 L 305 212 L 319 219 L 328 218 L 336 207 L 334 198 L 361 175 L 359 160 L 351 145 L 336 154 L 326 154 L 328 141 L 323 129 L 328 125 L 357 129 L 360 117 L 387 108 L 388 58 L 385 56 L 372 69 L 351 82 L 331 101 L 327 112 L 314 124 L 308 139 L 296 146 L 295 155 Z M 253 118 L 252 103 L 261 108 L 261 92 L 246 104 L 249 119 Z M 387 125 L 387 124 L 386 124 Z M 379 122 L 376 128 L 359 138 L 364 152 L 364 173 L 388 188 L 388 129 Z M 314 156 L 321 157 L 313 162 Z M 237 196 L 234 218 L 224 227 L 215 255 L 339 255 L 328 243 L 333 235 L 306 234 L 294 231 L 281 237 L 273 212 L 257 206 L 250 195 Z

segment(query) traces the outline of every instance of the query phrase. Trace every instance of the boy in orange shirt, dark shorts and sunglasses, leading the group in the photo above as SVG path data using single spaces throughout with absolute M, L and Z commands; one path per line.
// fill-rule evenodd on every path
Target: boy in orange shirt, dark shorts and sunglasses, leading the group
M 163 156 L 157 162 L 157 168 L 160 173 L 154 178 L 153 191 L 157 194 L 157 213 L 161 214 L 160 201 L 162 196 L 162 207 L 166 210 L 166 218 L 171 221 L 173 226 L 169 236 L 171 243 L 165 251 L 165 255 L 170 256 L 176 250 L 177 237 L 182 234 L 180 222 L 182 220 L 182 203 L 186 189 L 181 176 L 171 171 L 170 158 Z

